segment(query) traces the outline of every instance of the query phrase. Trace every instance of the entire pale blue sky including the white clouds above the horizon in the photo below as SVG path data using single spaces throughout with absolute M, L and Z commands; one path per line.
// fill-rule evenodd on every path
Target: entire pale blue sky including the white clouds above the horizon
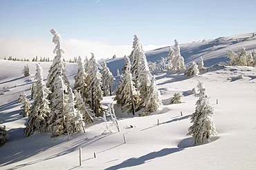
M 255 0 L 0 0 L 0 59 L 54 57 L 54 28 L 67 58 L 145 50 L 256 32 Z

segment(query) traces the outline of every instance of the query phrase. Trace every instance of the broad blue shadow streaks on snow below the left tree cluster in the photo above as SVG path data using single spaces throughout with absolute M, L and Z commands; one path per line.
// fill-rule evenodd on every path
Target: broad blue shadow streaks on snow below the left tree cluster
M 66 140 L 65 138 L 66 137 L 65 135 L 51 138 L 51 133 L 44 133 L 44 134 L 35 134 L 26 138 L 23 136 L 24 134 L 23 131 L 24 131 L 24 128 L 18 128 L 18 129 L 12 129 L 10 132 L 8 132 L 8 134 L 10 133 L 10 136 L 12 138 L 10 138 L 10 140 L 6 142 L 6 144 L 3 145 L 3 147 L 0 147 L 0 158 L 1 158 L 0 164 L 2 167 L 8 164 L 19 162 L 21 160 L 25 160 L 27 158 L 37 155 L 38 153 L 42 153 L 43 151 L 46 151 L 48 149 L 54 149 L 55 147 L 59 147 L 60 145 L 63 145 L 64 143 L 68 142 L 68 140 Z M 105 138 L 109 135 L 111 134 L 107 134 L 103 136 L 101 134 L 91 139 L 82 138 L 81 140 L 78 140 L 77 142 L 73 143 L 73 145 L 69 145 L 70 147 L 68 147 L 68 149 L 64 151 L 57 152 L 53 155 L 50 155 L 38 160 L 26 162 L 24 164 L 18 164 L 16 167 L 12 167 L 11 169 L 24 168 L 31 164 L 37 164 L 38 162 L 43 162 L 45 160 L 51 160 L 59 156 L 64 156 L 68 153 L 76 151 L 80 147 L 86 147 L 88 145 L 91 145 L 93 142 L 96 142 L 97 140 Z M 81 134 L 75 134 L 71 136 L 72 138 L 71 140 L 80 136 Z M 64 139 L 62 139 L 63 137 Z M 22 146 L 20 145 L 21 143 L 22 143 Z M 119 145 L 115 147 L 118 147 L 118 146 Z M 113 148 L 109 148 L 109 149 L 113 149 Z M 104 150 L 104 151 L 107 151 L 107 150 Z M 101 151 L 101 152 L 104 152 L 104 151 Z

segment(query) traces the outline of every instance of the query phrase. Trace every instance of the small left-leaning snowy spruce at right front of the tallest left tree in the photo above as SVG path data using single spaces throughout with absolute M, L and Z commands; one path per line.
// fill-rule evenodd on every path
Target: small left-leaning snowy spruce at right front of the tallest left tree
M 92 123 L 95 118 L 95 114 L 89 105 L 84 103 L 80 92 L 74 91 L 75 94 L 75 107 L 82 114 L 82 120 L 85 124 Z

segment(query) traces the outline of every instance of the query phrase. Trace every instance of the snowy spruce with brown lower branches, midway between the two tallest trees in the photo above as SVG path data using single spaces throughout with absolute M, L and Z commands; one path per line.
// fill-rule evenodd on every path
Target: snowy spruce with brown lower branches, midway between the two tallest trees
M 101 74 L 100 69 L 102 67 L 95 60 L 94 54 L 91 53 L 91 59 L 89 60 L 89 67 L 86 77 L 86 103 L 88 103 L 96 116 L 103 116 L 103 108 L 100 101 L 103 99 L 101 90 Z

